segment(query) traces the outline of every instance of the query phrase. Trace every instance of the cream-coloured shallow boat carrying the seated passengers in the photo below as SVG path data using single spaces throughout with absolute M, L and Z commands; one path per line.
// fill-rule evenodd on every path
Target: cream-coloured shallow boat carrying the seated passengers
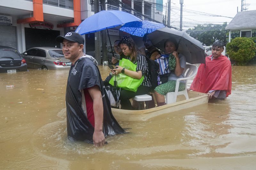
M 189 91 L 188 97 L 189 99 L 185 100 L 185 96 L 180 95 L 177 96 L 175 103 L 145 110 L 123 110 L 112 108 L 112 113 L 117 121 L 145 121 L 157 115 L 171 113 L 181 109 L 208 103 L 208 95 L 205 93 Z

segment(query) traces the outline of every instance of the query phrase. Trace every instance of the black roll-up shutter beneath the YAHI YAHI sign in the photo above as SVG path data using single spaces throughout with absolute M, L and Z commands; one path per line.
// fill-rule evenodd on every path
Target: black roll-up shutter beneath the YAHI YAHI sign
M 33 47 L 60 48 L 60 43 L 55 40 L 59 35 L 60 31 L 56 30 L 25 28 L 26 50 Z

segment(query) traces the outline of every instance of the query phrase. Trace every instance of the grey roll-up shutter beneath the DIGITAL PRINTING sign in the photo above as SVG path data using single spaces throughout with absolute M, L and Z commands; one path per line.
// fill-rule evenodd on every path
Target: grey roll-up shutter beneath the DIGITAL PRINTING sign
M 0 25 L 0 46 L 17 49 L 16 26 Z

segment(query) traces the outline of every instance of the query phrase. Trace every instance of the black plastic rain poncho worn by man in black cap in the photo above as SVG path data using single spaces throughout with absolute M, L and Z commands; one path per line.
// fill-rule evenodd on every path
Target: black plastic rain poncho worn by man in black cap
M 95 85 L 100 87 L 103 101 L 103 133 L 115 135 L 124 133 L 111 112 L 110 102 L 103 86 L 100 71 L 88 57 L 81 57 L 71 66 L 66 91 L 67 132 L 76 140 L 92 142 L 94 128 L 82 108 L 83 89 Z

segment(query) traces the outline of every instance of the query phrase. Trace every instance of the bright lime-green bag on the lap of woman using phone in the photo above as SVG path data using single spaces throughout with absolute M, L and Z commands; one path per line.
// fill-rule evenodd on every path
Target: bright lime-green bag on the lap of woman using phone
M 122 60 L 119 61 L 119 66 L 124 67 L 127 70 L 136 71 L 137 63 L 133 64 L 130 60 L 122 58 Z M 142 76 L 140 79 L 135 79 L 127 76 L 126 74 L 120 73 L 117 76 L 113 76 L 109 84 L 114 86 L 114 80 L 116 77 L 117 87 L 120 87 L 125 90 L 129 90 L 132 92 L 137 92 L 138 87 L 141 85 L 141 83 L 144 80 L 144 76 Z

